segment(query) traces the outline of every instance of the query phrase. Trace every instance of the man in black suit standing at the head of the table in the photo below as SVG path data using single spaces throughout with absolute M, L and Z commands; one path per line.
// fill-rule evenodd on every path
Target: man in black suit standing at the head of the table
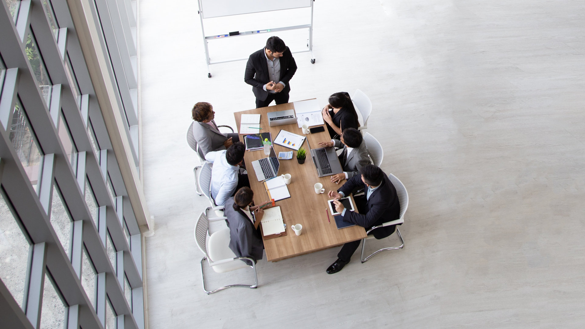
M 276 104 L 288 103 L 288 81 L 296 71 L 297 63 L 284 41 L 269 37 L 264 49 L 250 55 L 244 74 L 244 81 L 252 85 L 256 96 L 256 108 L 267 107 L 273 100 Z

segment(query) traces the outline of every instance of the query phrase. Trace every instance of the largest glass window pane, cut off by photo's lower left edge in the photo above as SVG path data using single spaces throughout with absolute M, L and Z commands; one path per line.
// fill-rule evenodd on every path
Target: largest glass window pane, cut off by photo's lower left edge
M 22 307 L 30 245 L 0 194 L 0 279 Z

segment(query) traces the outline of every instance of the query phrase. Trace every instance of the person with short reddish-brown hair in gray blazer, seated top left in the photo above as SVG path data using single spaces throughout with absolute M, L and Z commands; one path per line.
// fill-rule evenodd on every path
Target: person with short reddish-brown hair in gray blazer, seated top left
M 191 116 L 197 121 L 193 124 L 193 137 L 199 145 L 199 155 L 202 159 L 208 152 L 225 150 L 232 143 L 239 142 L 238 133 L 219 132 L 214 120 L 214 108 L 208 102 L 195 104 Z

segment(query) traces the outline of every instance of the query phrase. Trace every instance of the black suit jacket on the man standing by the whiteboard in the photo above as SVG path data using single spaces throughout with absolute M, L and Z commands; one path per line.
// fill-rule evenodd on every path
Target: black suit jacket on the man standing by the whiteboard
M 280 57 L 280 80 L 283 81 L 286 85 L 284 86 L 283 90 L 280 92 L 284 92 L 288 94 L 291 90 L 290 83 L 288 81 L 291 80 L 294 73 L 297 71 L 297 63 L 294 61 L 292 57 L 292 53 L 290 49 L 285 49 L 283 52 L 283 56 Z M 252 85 L 252 91 L 254 92 L 254 96 L 261 101 L 266 101 L 268 97 L 268 91 L 264 91 L 264 85 L 271 81 L 268 75 L 268 64 L 266 63 L 266 53 L 264 53 L 264 48 L 254 52 L 248 58 L 248 62 L 246 63 L 246 73 L 244 74 L 244 81 L 247 84 Z M 278 81 L 274 81 L 274 83 L 278 83 Z

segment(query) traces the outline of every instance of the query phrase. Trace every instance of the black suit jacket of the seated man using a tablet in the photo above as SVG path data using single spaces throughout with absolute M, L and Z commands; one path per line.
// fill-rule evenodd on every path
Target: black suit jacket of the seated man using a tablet
M 343 194 L 349 196 L 352 191 L 356 190 L 356 187 L 364 189 L 366 192 L 365 198 L 367 196 L 367 186 L 363 183 L 362 175 L 360 174 L 347 180 L 338 191 L 342 191 Z M 366 209 L 359 209 L 359 211 L 363 213 L 357 214 L 354 211 L 346 210 L 343 220 L 365 227 L 367 230 L 376 225 L 397 220 L 400 217 L 400 203 L 398 202 L 396 189 L 386 174 L 384 174 L 380 187 L 371 193 L 370 199 L 366 203 Z M 393 226 L 381 227 L 372 231 L 376 239 L 386 238 L 393 232 Z

